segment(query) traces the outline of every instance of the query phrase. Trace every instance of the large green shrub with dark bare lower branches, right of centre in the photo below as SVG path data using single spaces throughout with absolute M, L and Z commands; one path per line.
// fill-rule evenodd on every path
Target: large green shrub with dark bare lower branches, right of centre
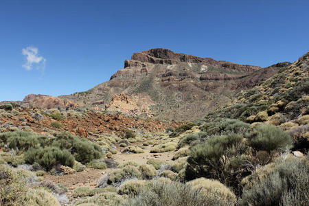
M 247 157 L 247 146 L 242 135 L 215 136 L 203 144 L 191 148 L 187 159 L 186 179 L 198 177 L 218 179 L 225 185 L 238 185 L 247 168 L 243 168 Z

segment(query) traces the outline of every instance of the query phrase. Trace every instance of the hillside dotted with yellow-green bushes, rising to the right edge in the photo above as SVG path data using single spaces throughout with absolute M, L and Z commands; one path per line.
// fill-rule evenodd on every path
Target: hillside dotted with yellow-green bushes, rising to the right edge
M 240 119 L 251 124 L 272 124 L 288 131 L 294 149 L 309 148 L 309 52 L 277 75 L 249 91 L 239 93 L 229 106 L 206 116 Z

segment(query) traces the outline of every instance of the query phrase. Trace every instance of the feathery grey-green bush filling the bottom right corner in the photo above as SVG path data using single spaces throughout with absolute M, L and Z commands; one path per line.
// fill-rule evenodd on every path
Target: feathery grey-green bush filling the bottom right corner
M 308 205 L 308 159 L 277 162 L 275 171 L 261 179 L 240 198 L 240 205 Z

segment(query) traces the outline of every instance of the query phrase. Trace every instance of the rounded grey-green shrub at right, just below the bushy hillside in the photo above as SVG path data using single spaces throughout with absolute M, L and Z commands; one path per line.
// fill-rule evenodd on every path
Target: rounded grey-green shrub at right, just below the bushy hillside
M 271 152 L 286 146 L 291 147 L 292 138 L 282 129 L 271 125 L 258 125 L 247 133 L 249 145 L 255 150 Z

